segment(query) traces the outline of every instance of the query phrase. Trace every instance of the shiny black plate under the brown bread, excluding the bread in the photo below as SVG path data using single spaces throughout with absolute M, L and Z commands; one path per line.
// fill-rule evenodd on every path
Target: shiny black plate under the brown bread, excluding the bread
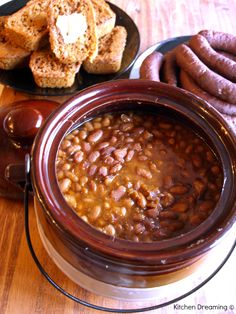
M 0 6 L 0 16 L 9 15 L 16 12 L 27 2 L 28 1 L 26 0 L 14 0 Z M 127 72 L 134 63 L 139 51 L 139 31 L 133 20 L 123 10 L 121 10 L 112 3 L 109 3 L 109 5 L 111 9 L 116 13 L 116 25 L 124 26 L 128 34 L 121 69 L 119 72 L 109 75 L 92 75 L 86 73 L 83 69 L 81 69 L 76 76 L 74 85 L 70 88 L 40 88 L 35 84 L 33 75 L 29 68 L 10 71 L 0 70 L 0 83 L 30 94 L 44 96 L 63 96 L 76 93 L 79 90 L 84 89 L 85 87 L 100 82 L 117 79 L 122 74 Z

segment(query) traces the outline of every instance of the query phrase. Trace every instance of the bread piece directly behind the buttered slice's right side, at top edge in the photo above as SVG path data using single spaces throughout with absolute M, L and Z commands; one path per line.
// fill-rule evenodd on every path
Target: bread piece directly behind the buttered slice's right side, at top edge
M 115 27 L 116 14 L 104 0 L 91 0 L 95 9 L 98 38 L 110 33 Z

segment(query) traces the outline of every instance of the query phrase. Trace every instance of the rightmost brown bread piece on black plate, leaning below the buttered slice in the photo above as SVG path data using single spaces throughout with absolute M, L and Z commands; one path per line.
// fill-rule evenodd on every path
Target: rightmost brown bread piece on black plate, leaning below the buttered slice
M 116 26 L 111 33 L 99 40 L 97 57 L 84 61 L 84 69 L 91 74 L 110 74 L 120 70 L 126 44 L 127 32 L 123 26 Z

